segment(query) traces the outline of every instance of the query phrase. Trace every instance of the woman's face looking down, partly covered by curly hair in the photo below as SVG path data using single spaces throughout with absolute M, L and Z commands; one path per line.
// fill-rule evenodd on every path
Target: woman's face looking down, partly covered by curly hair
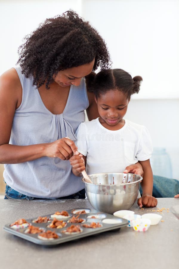
M 70 85 L 79 86 L 82 77 L 91 73 L 94 63 L 95 58 L 90 63 L 61 70 L 53 77 L 53 79 L 61 87 L 67 87 Z

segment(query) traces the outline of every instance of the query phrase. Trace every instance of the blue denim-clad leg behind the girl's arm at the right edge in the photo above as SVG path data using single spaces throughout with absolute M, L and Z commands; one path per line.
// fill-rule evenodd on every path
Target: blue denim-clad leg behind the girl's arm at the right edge
M 179 181 L 173 178 L 165 178 L 161 176 L 153 176 L 153 192 L 152 196 L 155 198 L 174 197 L 179 194 Z M 140 186 L 140 193 L 142 195 L 142 188 Z

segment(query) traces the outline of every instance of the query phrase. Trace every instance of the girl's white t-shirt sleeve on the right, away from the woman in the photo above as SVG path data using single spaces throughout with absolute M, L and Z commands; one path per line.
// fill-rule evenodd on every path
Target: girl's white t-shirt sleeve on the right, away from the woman
M 136 154 L 138 161 L 146 161 L 150 159 L 152 151 L 152 140 L 149 131 L 145 126 L 142 126 L 141 139 L 139 141 L 138 152 Z

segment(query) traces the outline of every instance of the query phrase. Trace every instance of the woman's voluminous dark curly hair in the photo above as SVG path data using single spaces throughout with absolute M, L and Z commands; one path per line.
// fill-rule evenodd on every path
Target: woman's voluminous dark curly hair
M 61 16 L 46 19 L 18 48 L 17 64 L 25 77 L 33 76 L 33 85 L 46 88 L 58 71 L 92 62 L 93 71 L 110 67 L 110 56 L 105 41 L 72 10 Z

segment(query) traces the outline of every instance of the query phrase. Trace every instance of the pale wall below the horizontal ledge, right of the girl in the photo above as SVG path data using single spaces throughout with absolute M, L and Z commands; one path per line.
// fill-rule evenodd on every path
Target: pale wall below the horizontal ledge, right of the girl
M 172 162 L 172 176 L 179 180 L 179 100 L 135 100 L 129 102 L 125 118 L 145 125 L 153 147 L 165 148 Z M 162 174 L 163 175 L 163 174 Z

